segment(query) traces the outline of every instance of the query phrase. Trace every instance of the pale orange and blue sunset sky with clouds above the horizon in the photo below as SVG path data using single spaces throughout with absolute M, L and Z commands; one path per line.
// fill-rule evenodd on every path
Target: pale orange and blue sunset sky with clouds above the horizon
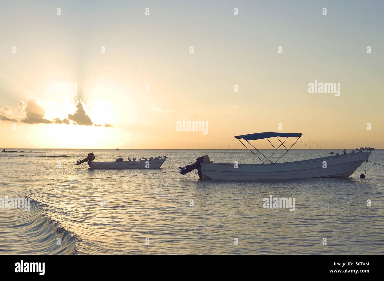
M 3 2 L 0 149 L 226 149 L 278 123 L 324 149 L 384 149 L 383 11 L 382 1 Z M 308 93 L 315 80 L 340 83 L 340 95 Z M 49 92 L 52 81 L 77 92 Z M 207 122 L 207 134 L 177 131 L 183 119 Z

